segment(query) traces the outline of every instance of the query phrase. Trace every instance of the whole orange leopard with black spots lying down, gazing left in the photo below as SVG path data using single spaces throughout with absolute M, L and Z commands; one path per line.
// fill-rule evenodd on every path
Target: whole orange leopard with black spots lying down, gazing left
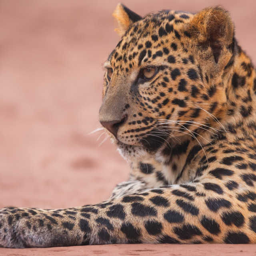
M 256 243 L 256 72 L 221 6 L 118 4 L 99 121 L 131 164 L 95 205 L 0 210 L 0 245 Z

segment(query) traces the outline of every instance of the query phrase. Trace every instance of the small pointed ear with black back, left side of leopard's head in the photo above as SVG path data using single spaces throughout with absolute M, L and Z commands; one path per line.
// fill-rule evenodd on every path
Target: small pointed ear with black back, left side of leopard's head
M 132 12 L 130 9 L 128 9 L 123 4 L 118 4 L 116 6 L 116 9 L 114 10 L 113 16 L 116 18 L 118 22 L 118 28 L 115 29 L 115 31 L 122 37 L 128 27 L 138 21 L 141 20 L 142 17 L 135 12 Z

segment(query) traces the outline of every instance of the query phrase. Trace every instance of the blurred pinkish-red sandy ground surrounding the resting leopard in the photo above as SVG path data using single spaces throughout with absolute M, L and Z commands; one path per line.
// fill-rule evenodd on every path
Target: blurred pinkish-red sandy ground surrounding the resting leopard
M 124 0 L 141 15 L 221 1 Z M 100 133 L 101 64 L 118 42 L 118 1 L 0 1 L 0 207 L 66 208 L 108 198 L 129 166 Z M 225 1 L 256 60 L 255 1 Z M 109 245 L 4 249 L 0 255 L 256 255 L 254 245 Z

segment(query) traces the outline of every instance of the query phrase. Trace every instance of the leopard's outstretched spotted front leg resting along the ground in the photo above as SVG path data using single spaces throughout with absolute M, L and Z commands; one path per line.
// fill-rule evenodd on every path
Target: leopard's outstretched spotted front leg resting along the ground
M 112 243 L 255 243 L 252 200 L 207 179 L 65 210 L 4 208 L 0 244 L 50 247 Z M 236 217 L 237 216 L 237 217 Z

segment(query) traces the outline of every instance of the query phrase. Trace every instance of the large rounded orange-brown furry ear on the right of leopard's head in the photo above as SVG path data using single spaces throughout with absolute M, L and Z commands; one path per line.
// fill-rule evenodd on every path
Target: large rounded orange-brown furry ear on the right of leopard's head
M 203 48 L 212 48 L 218 63 L 222 49 L 228 48 L 234 37 L 234 25 L 228 12 L 219 6 L 198 12 L 191 20 L 189 32 Z

